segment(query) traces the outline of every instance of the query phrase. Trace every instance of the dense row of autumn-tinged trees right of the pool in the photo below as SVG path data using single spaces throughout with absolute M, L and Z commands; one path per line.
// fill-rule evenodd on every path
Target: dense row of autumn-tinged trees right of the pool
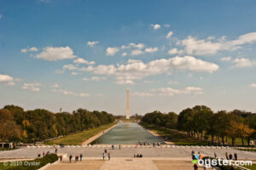
M 256 114 L 247 111 L 217 111 L 213 112 L 205 105 L 187 108 L 178 115 L 174 112 L 167 114 L 160 111 L 147 113 L 142 122 L 156 127 L 177 129 L 190 137 L 226 144 L 228 138 L 234 145 L 236 139 L 250 144 L 256 139 Z

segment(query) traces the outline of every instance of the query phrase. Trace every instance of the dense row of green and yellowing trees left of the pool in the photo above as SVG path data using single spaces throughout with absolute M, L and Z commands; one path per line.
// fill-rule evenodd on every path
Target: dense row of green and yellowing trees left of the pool
M 73 113 L 52 113 L 44 109 L 24 111 L 15 105 L 0 109 L 0 139 L 36 143 L 69 133 L 78 133 L 114 121 L 106 111 L 78 109 Z

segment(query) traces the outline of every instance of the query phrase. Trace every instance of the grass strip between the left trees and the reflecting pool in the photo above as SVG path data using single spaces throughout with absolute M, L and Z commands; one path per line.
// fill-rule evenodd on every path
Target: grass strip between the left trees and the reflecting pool
M 86 139 L 90 139 L 90 137 L 96 135 L 97 133 L 102 132 L 103 130 L 113 126 L 114 124 L 115 123 L 110 123 L 107 125 L 102 125 L 100 127 L 90 129 L 90 130 L 84 130 L 83 132 L 67 135 L 60 139 L 47 141 L 45 144 L 69 144 L 69 145 L 82 144 Z

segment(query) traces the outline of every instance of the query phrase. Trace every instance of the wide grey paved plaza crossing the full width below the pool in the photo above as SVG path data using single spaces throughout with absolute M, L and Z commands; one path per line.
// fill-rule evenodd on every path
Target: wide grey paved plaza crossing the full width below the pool
M 121 148 L 121 150 L 111 150 L 110 147 L 70 147 L 70 148 L 60 148 L 58 154 L 69 156 L 79 156 L 81 153 L 84 157 L 102 157 L 103 150 L 107 149 L 110 152 L 112 157 L 133 157 L 134 154 L 143 154 L 144 157 L 169 157 L 169 158 L 189 158 L 191 159 L 191 151 L 195 150 L 195 153 L 201 152 L 201 155 L 205 156 L 214 156 L 214 152 L 218 157 L 224 158 L 225 153 L 237 153 L 238 159 L 248 159 L 256 160 L 256 152 L 247 152 L 234 149 L 221 149 L 221 148 Z M 38 152 L 51 152 L 54 153 L 54 148 L 30 148 L 30 149 L 20 149 L 20 150 L 11 150 L 0 154 L 0 160 L 3 158 L 15 159 L 15 158 L 35 158 L 38 155 Z

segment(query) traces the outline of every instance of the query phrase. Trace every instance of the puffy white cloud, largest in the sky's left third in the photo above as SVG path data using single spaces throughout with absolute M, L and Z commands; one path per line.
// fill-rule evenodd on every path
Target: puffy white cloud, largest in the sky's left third
M 45 59 L 49 61 L 56 61 L 60 59 L 74 59 L 76 56 L 73 54 L 73 49 L 67 47 L 46 47 L 40 54 L 36 55 L 37 59 Z

